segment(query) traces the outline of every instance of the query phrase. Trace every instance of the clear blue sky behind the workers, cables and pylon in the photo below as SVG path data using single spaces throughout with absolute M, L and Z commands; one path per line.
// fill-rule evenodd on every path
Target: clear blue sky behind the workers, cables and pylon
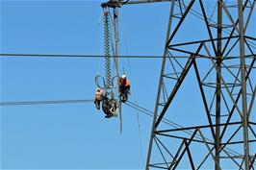
M 103 55 L 101 2 L 2 0 L 0 51 Z M 161 56 L 168 12 L 166 3 L 122 7 L 120 54 Z M 191 27 L 190 21 L 185 26 L 186 32 L 178 33 L 177 41 L 202 36 L 192 34 L 200 30 Z M 98 58 L 1 58 L 0 61 L 1 101 L 92 99 L 94 77 L 104 75 L 105 71 L 104 60 Z M 161 59 L 121 59 L 120 73 L 123 68 L 132 85 L 130 100 L 153 110 Z M 191 80 L 185 86 L 196 86 Z M 201 123 L 194 114 L 188 114 L 184 121 L 175 112 L 203 110 L 202 105 L 197 106 L 196 100 L 192 100 L 198 88 L 191 88 L 184 88 L 172 105 L 172 120 L 178 123 Z M 179 105 L 186 107 L 180 109 Z M 123 134 L 119 134 L 118 118 L 105 119 L 92 103 L 1 107 L 1 168 L 142 169 L 152 119 L 139 113 L 140 136 L 137 114 L 123 105 Z

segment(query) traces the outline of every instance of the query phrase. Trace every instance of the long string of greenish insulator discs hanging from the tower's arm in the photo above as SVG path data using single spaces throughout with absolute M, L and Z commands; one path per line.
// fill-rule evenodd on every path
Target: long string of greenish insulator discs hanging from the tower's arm
M 104 47 L 105 47 L 105 79 L 106 87 L 111 87 L 112 76 L 111 76 L 111 59 L 110 59 L 110 16 L 108 9 L 104 12 Z

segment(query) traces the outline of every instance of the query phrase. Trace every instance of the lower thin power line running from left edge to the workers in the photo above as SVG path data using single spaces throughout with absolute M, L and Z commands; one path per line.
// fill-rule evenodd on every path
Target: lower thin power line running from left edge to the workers
M 91 103 L 91 102 L 93 102 L 92 99 L 88 99 L 88 100 L 10 101 L 10 102 L 0 102 L 0 106 L 78 104 L 78 103 Z

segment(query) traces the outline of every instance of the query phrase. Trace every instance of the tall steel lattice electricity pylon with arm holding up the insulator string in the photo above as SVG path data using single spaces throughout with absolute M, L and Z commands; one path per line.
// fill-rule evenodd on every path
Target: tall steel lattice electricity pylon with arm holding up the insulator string
M 254 169 L 255 0 L 105 5 L 156 2 L 170 14 L 145 169 Z

